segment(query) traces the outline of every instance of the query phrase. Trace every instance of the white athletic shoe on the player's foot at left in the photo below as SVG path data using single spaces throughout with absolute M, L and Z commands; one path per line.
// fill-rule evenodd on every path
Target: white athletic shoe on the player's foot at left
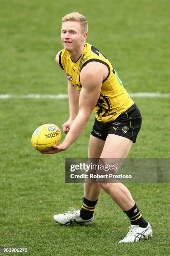
M 73 207 L 70 207 L 71 211 L 66 213 L 54 215 L 54 220 L 62 225 L 71 225 L 71 224 L 80 224 L 80 225 L 90 225 L 94 219 L 94 214 L 91 219 L 83 220 L 80 217 L 80 210 L 75 210 Z

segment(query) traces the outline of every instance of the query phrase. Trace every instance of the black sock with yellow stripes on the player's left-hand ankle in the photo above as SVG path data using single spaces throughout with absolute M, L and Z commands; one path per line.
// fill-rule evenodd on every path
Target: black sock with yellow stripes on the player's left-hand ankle
M 90 201 L 90 200 L 87 200 L 85 197 L 83 198 L 82 208 L 80 210 L 80 217 L 83 220 L 89 220 L 90 218 L 92 218 L 93 212 L 97 204 L 97 200 Z

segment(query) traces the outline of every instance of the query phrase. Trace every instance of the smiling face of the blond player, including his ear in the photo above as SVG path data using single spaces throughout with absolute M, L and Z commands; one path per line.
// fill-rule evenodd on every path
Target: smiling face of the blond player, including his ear
M 61 41 L 67 51 L 75 50 L 85 43 L 87 33 L 82 33 L 80 23 L 77 21 L 65 21 L 61 27 Z

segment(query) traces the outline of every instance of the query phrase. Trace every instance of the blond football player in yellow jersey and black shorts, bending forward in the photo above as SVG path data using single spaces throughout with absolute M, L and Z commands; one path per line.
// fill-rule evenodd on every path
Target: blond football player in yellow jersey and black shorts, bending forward
M 80 136 L 94 109 L 95 123 L 89 141 L 90 159 L 125 159 L 141 126 L 141 115 L 130 99 L 117 72 L 94 46 L 87 44 L 88 25 L 84 16 L 70 13 L 62 18 L 61 41 L 56 62 L 66 73 L 70 118 L 62 125 L 64 141 L 43 154 L 64 151 Z M 85 183 L 81 210 L 55 215 L 62 225 L 89 225 L 101 189 L 117 203 L 130 219 L 130 230 L 120 243 L 138 242 L 152 237 L 129 190 L 121 183 Z

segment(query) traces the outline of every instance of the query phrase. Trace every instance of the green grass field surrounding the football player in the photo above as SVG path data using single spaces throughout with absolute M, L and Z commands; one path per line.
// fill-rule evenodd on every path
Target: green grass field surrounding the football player
M 107 56 L 128 92 L 169 93 L 169 1 L 68 0 L 0 2 L 0 94 L 67 93 L 57 69 L 60 20 L 72 11 L 89 23 L 87 42 Z M 130 158 L 170 158 L 169 98 L 134 98 L 143 126 Z M 83 184 L 65 184 L 65 158 L 87 157 L 92 114 L 80 138 L 56 155 L 41 155 L 30 138 L 43 123 L 61 127 L 68 100 L 0 100 L 0 246 L 28 247 L 29 255 L 169 255 L 169 184 L 127 184 L 153 239 L 118 244 L 129 222 L 105 192 L 90 227 L 63 227 L 55 213 L 80 208 Z M 62 140 L 64 135 L 62 133 Z

